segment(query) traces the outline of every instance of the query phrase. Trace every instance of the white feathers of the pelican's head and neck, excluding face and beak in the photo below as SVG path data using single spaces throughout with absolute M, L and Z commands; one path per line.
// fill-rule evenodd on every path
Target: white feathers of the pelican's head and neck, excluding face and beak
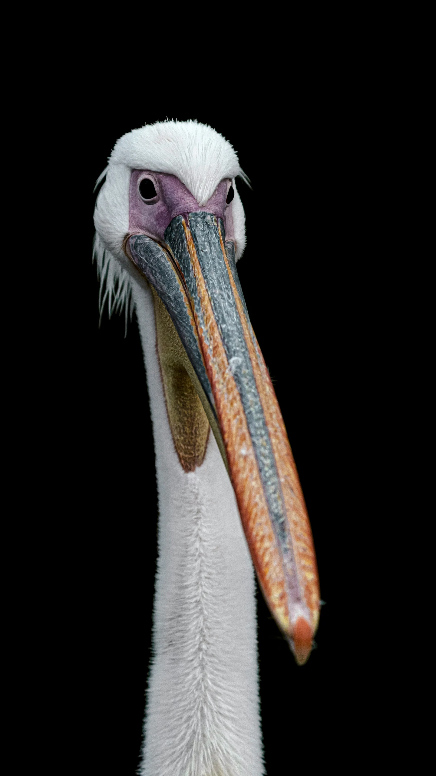
M 154 657 L 147 691 L 141 776 L 260 776 L 254 570 L 234 490 L 215 438 L 185 473 L 175 452 L 156 352 L 151 290 L 123 253 L 134 168 L 176 175 L 208 201 L 240 175 L 233 148 L 209 126 L 166 122 L 122 137 L 95 208 L 101 303 L 135 307 L 147 370 L 156 450 L 159 532 Z M 104 174 L 103 174 L 104 175 Z M 101 176 L 102 178 L 103 176 Z M 237 258 L 244 210 L 232 203 Z

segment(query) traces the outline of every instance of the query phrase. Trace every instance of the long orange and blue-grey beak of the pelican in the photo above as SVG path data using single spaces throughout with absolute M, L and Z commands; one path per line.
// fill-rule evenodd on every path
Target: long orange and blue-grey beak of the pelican
M 165 248 L 130 237 L 133 261 L 168 310 L 237 497 L 261 589 L 299 665 L 312 649 L 320 590 L 312 532 L 268 369 L 223 222 L 178 216 Z

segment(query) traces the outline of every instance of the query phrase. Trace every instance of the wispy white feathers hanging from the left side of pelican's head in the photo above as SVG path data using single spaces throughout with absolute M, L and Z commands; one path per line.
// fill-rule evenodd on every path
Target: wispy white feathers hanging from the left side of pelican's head
M 98 232 L 95 232 L 94 237 L 92 263 L 94 263 L 94 259 L 97 264 L 97 277 L 100 281 L 99 326 L 102 323 L 102 315 L 106 300 L 108 300 L 109 318 L 112 316 L 113 312 L 118 314 L 121 313 L 124 307 L 126 318 L 126 333 L 124 336 L 126 336 L 127 320 L 129 317 L 130 320 L 132 320 L 134 307 L 132 281 L 123 267 L 116 261 L 116 258 L 103 247 Z

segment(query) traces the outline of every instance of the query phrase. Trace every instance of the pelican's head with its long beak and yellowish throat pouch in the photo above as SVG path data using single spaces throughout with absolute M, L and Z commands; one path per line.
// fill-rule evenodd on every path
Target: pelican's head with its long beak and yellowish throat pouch
M 209 126 L 157 123 L 124 135 L 99 181 L 96 250 L 151 286 L 168 420 L 185 471 L 201 466 L 209 429 L 237 498 L 268 607 L 299 665 L 317 630 L 320 591 L 299 477 L 236 262 L 245 247 L 237 154 Z M 259 212 L 261 220 L 261 210 Z M 274 309 L 277 253 L 259 281 Z M 277 332 L 283 338 L 285 332 Z

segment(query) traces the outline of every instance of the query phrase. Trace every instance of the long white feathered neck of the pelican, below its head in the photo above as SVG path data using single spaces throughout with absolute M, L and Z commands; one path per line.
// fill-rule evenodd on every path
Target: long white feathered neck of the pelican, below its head
M 178 461 L 157 362 L 151 291 L 133 298 L 156 451 L 154 658 L 141 776 L 261 776 L 254 572 L 213 434 L 202 466 Z

